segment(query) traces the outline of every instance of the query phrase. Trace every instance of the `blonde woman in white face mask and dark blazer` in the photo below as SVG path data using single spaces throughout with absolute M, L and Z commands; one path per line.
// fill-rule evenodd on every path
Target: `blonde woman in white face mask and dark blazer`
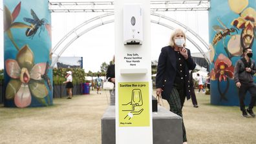
M 190 50 L 186 47 L 186 35 L 176 29 L 171 34 L 169 46 L 162 48 L 156 73 L 156 96 L 169 103 L 170 111 L 182 117 L 185 99 L 190 98 L 189 70 L 196 67 Z M 183 143 L 187 143 L 186 129 L 182 119 Z

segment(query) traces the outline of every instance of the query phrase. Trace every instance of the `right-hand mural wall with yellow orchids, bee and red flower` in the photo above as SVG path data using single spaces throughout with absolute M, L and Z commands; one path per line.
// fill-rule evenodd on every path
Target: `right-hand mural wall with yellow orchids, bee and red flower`
M 211 1 L 209 41 L 211 48 L 211 104 L 239 105 L 238 90 L 233 81 L 234 67 L 242 50 L 255 50 L 256 1 Z M 255 59 L 255 55 L 253 56 Z M 255 79 L 254 79 L 255 80 Z M 246 96 L 248 105 L 250 96 Z

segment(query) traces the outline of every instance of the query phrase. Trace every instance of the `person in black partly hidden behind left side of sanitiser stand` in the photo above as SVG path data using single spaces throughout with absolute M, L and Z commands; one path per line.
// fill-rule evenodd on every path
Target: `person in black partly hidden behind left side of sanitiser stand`
M 110 81 L 112 83 L 116 82 L 115 74 L 114 74 L 114 57 L 112 59 L 112 65 L 109 65 L 107 68 L 107 81 Z M 111 103 L 110 105 L 115 105 L 115 89 L 109 90 L 110 96 L 111 96 Z

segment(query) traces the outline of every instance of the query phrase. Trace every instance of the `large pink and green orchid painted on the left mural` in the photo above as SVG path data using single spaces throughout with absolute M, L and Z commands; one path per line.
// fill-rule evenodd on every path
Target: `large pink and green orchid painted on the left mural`
M 12 79 L 6 87 L 6 99 L 14 99 L 19 108 L 28 107 L 31 103 L 31 94 L 38 99 L 43 99 L 48 94 L 43 83 L 42 75 L 45 74 L 46 63 L 34 65 L 34 55 L 25 45 L 15 59 L 5 61 L 6 73 Z

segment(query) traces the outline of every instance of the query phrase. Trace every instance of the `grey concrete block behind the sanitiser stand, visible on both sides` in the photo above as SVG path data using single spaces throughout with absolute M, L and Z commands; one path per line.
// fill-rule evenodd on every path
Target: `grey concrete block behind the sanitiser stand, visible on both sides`
M 116 143 L 115 107 L 109 106 L 101 118 L 101 144 Z M 153 143 L 182 143 L 182 118 L 158 106 L 153 112 Z

